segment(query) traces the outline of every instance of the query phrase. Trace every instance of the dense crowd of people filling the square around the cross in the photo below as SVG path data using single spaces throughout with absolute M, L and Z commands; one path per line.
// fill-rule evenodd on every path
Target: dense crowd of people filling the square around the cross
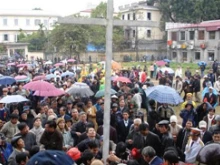
M 53 162 L 53 158 L 65 153 L 66 159 L 71 158 L 72 163 L 74 161 L 77 165 L 101 165 L 103 150 L 108 150 L 108 159 L 104 161 L 111 165 L 218 164 L 219 150 L 216 149 L 213 154 L 211 151 L 216 146 L 220 148 L 220 116 L 215 114 L 219 103 L 220 77 L 213 70 L 216 66 L 203 79 L 199 71 L 193 75 L 189 68 L 183 75 L 181 67 L 175 73 L 169 73 L 154 65 L 149 69 L 146 66 L 143 69 L 133 67 L 113 73 L 114 79 L 123 76 L 131 83 L 112 80 L 112 89 L 117 93 L 111 95 L 109 103 L 109 149 L 103 148 L 104 97 L 85 98 L 68 93 L 39 97 L 23 88 L 28 82 L 1 85 L 1 98 L 17 94 L 30 101 L 0 103 L 0 163 L 44 165 L 39 162 L 44 159 Z M 51 73 L 55 78 L 45 81 L 63 91 L 68 91 L 80 81 L 95 94 L 105 84 L 105 72 L 102 66 L 93 69 L 87 70 L 84 65 L 80 72 L 74 69 L 74 64 L 54 67 L 38 61 L 32 69 L 10 66 L 1 73 L 12 77 L 26 75 L 30 79 Z M 61 77 L 67 70 L 75 75 Z M 158 103 L 145 94 L 147 88 L 156 85 L 156 79 L 160 85 L 170 86 L 184 95 L 179 114 L 174 110 L 176 105 Z M 200 92 L 203 94 L 200 95 Z M 209 154 L 200 153 L 206 147 Z M 64 156 L 60 159 L 65 162 Z

